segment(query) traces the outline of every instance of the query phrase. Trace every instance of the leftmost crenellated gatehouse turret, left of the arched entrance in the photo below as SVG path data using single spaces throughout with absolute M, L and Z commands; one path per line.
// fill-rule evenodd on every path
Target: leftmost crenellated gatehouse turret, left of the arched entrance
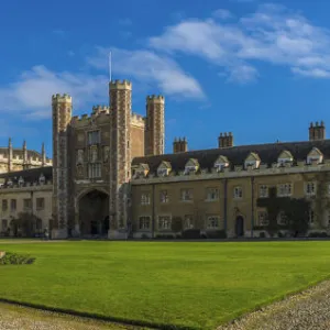
M 72 120 L 73 100 L 68 95 L 53 95 L 53 216 L 56 229 L 53 237 L 67 237 L 69 185 L 68 185 L 68 128 Z

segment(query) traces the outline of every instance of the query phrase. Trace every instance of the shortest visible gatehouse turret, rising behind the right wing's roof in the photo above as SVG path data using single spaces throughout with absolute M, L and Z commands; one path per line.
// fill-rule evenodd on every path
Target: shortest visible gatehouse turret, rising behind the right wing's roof
M 163 96 L 146 97 L 145 121 L 145 155 L 164 154 L 164 111 L 165 98 Z

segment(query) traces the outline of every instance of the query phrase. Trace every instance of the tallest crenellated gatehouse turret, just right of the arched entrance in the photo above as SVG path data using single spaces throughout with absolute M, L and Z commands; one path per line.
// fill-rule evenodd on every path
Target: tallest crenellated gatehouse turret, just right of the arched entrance
M 127 237 L 129 180 L 131 178 L 132 84 L 110 81 L 110 205 L 109 239 Z

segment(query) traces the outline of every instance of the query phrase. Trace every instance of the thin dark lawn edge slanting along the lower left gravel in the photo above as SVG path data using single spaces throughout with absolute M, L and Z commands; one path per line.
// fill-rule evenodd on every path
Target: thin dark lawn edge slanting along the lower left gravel
M 26 308 L 33 308 L 40 311 L 50 311 L 55 312 L 59 315 L 65 316 L 72 316 L 72 317 L 78 317 L 82 319 L 90 319 L 90 320 L 97 320 L 97 321 L 103 321 L 103 322 L 112 322 L 121 326 L 133 326 L 133 327 L 146 327 L 150 329 L 160 329 L 160 330 L 200 330 L 201 328 L 196 327 L 187 327 L 187 326 L 176 326 L 176 324 L 166 324 L 166 323 L 155 323 L 155 322 L 147 322 L 147 321 L 139 321 L 133 319 L 125 319 L 125 318 L 117 318 L 117 317 L 106 317 L 99 314 L 95 312 L 87 312 L 87 311 L 79 311 L 74 309 L 66 309 L 66 308 L 59 308 L 59 307 L 51 307 L 42 304 L 34 304 L 34 302 L 26 302 L 26 301 L 20 301 L 20 300 L 13 300 L 8 298 L 1 298 L 0 302 L 8 304 L 8 305 L 15 305 L 19 307 L 26 307 Z

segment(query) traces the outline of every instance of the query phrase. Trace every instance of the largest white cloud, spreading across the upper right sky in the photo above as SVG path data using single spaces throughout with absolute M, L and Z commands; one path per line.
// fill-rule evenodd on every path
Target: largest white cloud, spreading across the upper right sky
M 227 15 L 222 10 L 219 13 Z M 330 31 L 273 3 L 260 6 L 234 23 L 185 20 L 151 37 L 148 44 L 158 52 L 202 57 L 222 67 L 231 81 L 238 81 L 237 77 L 254 80 L 257 62 L 287 66 L 300 76 L 330 75 Z

